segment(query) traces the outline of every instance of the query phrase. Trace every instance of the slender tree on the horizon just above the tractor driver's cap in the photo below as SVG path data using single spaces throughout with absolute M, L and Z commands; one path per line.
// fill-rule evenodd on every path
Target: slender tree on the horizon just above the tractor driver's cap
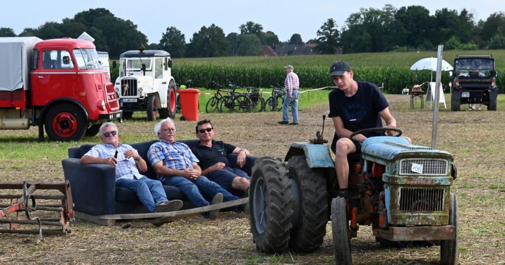
M 340 32 L 337 23 L 329 18 L 317 31 L 317 43 L 315 52 L 318 54 L 333 55 L 339 48 Z M 314 43 L 314 42 L 313 42 Z

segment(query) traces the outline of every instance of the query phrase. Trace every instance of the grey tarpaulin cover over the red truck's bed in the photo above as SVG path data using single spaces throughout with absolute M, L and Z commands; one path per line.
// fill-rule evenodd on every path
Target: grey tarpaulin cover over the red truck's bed
M 0 91 L 28 90 L 33 46 L 37 37 L 0 38 Z

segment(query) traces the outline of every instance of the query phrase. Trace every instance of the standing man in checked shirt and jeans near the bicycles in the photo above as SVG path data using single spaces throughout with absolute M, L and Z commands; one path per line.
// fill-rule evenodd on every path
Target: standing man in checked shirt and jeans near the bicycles
M 286 69 L 286 79 L 284 80 L 284 87 L 286 88 L 287 96 L 284 97 L 284 102 L 282 103 L 282 121 L 279 124 L 289 123 L 289 105 L 291 105 L 291 113 L 293 114 L 293 123 L 291 125 L 298 125 L 298 96 L 300 82 L 298 80 L 298 75 L 293 72 L 293 66 L 285 66 Z

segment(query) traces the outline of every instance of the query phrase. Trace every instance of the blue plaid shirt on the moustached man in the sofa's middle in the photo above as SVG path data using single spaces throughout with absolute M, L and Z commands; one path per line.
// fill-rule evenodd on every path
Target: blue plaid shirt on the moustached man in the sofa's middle
M 175 170 L 185 170 L 192 169 L 193 162 L 200 162 L 196 156 L 194 156 L 189 146 L 185 143 L 169 143 L 165 140 L 160 140 L 149 147 L 147 151 L 147 157 L 149 158 L 149 163 L 151 166 L 155 166 L 156 163 L 163 161 L 163 166 L 169 169 Z M 167 176 L 157 174 L 160 181 L 167 179 Z

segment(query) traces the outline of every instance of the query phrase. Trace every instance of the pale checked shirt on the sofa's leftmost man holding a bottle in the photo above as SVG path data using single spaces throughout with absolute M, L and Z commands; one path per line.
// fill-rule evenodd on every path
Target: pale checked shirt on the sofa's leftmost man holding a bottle
M 128 144 L 119 144 L 118 148 L 114 147 L 112 144 L 97 144 L 93 146 L 84 155 L 109 158 L 114 157 L 114 154 L 118 151 L 118 164 L 116 164 L 116 181 L 120 179 L 140 179 L 143 177 L 142 174 L 138 172 L 137 166 L 135 165 L 135 160 L 133 157 L 126 159 L 124 152 L 126 150 L 135 150 Z

